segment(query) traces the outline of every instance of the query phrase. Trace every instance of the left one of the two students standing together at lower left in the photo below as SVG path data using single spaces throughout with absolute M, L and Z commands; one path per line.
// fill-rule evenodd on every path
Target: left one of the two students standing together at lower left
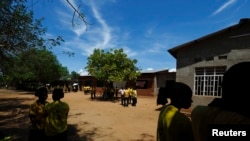
M 45 140 L 45 104 L 49 103 L 48 91 L 46 87 L 40 87 L 36 90 L 35 96 L 38 99 L 30 105 L 29 118 L 32 124 L 29 133 L 29 141 L 44 141 Z

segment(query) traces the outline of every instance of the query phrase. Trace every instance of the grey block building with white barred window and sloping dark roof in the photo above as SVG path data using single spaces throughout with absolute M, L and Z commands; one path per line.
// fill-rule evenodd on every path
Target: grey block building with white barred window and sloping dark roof
M 168 50 L 176 59 L 176 81 L 193 90 L 193 106 L 207 105 L 222 94 L 224 72 L 250 61 L 250 19 Z

